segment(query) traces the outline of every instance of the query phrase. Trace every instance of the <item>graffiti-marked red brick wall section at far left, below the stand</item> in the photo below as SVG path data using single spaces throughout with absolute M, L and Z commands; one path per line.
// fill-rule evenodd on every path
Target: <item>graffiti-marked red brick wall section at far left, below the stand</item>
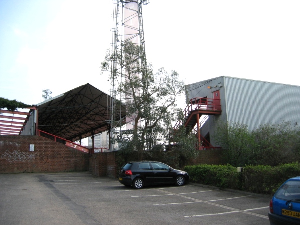
M 43 137 L 0 136 L 0 173 L 88 171 L 88 159 L 86 153 Z

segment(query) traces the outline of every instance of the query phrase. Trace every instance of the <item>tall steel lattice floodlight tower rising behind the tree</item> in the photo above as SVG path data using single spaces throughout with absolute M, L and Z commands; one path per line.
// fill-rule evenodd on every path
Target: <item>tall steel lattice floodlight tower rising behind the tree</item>
M 142 5 L 148 4 L 149 0 L 114 0 L 113 11 L 113 28 L 112 28 L 112 48 L 111 55 L 117 55 L 118 52 L 122 52 L 122 47 L 127 41 L 131 41 L 140 45 L 141 55 L 141 75 L 145 74 L 147 68 L 147 62 L 145 59 L 145 41 L 143 32 L 143 20 L 142 20 Z M 125 79 L 122 74 L 122 68 L 118 64 L 115 58 L 112 59 L 111 65 L 111 88 L 110 88 L 110 124 L 111 140 L 115 138 L 117 132 L 121 131 L 121 124 L 124 123 L 117 113 L 122 113 L 121 108 L 116 104 L 116 101 L 122 103 L 125 102 L 125 96 L 122 93 L 117 92 L 118 86 Z M 140 74 L 139 74 L 140 75 Z M 128 118 L 127 118 L 128 119 Z M 128 122 L 128 121 L 127 121 Z M 110 149 L 113 150 L 113 144 L 110 145 Z

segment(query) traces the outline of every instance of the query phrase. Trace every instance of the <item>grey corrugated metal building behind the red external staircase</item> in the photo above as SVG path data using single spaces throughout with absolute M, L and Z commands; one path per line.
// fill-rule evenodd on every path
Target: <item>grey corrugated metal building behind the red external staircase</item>
M 209 116 L 201 128 L 204 137 L 213 135 L 218 122 L 244 123 L 250 130 L 282 121 L 300 125 L 300 86 L 220 76 L 187 85 L 186 90 L 186 102 L 195 97 L 215 98 L 216 93 L 221 100 L 221 114 Z

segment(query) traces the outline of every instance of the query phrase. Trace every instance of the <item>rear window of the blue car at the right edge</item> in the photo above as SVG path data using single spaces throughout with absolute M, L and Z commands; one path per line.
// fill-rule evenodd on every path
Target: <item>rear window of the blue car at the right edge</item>
M 275 194 L 282 200 L 300 199 L 300 180 L 289 180 Z

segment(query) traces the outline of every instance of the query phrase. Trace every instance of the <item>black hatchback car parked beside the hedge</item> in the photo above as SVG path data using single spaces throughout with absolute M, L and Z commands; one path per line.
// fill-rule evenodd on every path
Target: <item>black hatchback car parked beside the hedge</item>
M 174 183 L 184 185 L 189 180 L 187 172 L 173 169 L 157 161 L 126 162 L 120 169 L 119 181 L 125 186 L 141 189 L 145 185 Z

